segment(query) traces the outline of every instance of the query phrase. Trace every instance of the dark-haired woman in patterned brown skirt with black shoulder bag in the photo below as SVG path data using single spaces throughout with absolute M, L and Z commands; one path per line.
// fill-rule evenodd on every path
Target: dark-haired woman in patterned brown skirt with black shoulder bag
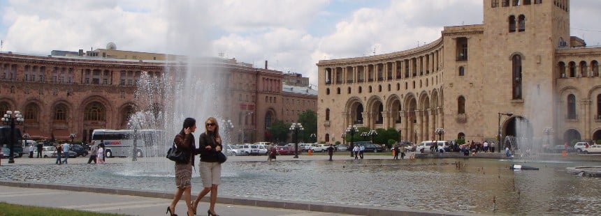
M 182 150 L 184 154 L 189 155 L 189 160 L 187 162 L 175 162 L 175 186 L 178 187 L 178 190 L 175 190 L 175 194 L 173 195 L 173 201 L 167 207 L 167 212 L 170 215 L 175 214 L 175 205 L 178 204 L 178 201 L 184 195 L 184 200 L 186 201 L 187 207 L 187 215 L 196 215 L 195 210 L 192 209 L 191 206 L 191 178 L 192 178 L 192 167 L 194 167 L 194 155 L 196 151 L 196 145 L 194 144 L 194 134 L 196 131 L 196 119 L 194 118 L 186 118 L 184 119 L 184 123 L 182 125 L 182 130 L 175 135 L 173 139 L 173 144 Z

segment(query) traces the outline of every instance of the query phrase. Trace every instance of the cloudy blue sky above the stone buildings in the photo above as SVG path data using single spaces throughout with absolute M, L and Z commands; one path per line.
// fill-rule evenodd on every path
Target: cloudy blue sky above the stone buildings
M 551 0 L 543 0 L 551 1 Z M 1 51 L 105 48 L 218 56 L 298 72 L 322 59 L 396 52 L 482 23 L 481 0 L 0 0 Z M 601 45 L 601 1 L 571 2 L 572 36 Z

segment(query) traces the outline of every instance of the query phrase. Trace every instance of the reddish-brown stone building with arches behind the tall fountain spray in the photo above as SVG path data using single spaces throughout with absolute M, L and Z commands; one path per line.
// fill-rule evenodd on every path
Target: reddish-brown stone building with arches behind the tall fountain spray
M 94 129 L 126 128 L 129 116 L 140 109 L 134 93 L 143 73 L 158 79 L 186 67 L 172 61 L 182 56 L 115 50 L 114 45 L 87 54 L 54 53 L 61 56 L 0 53 L 0 111 L 22 111 L 22 132 L 33 139 L 66 140 L 75 133 L 76 139 L 88 141 Z M 213 61 L 226 73 L 225 116 L 236 128 L 232 137 L 237 143 L 264 141 L 273 121 L 291 123 L 298 111 L 317 110 L 317 91 L 292 91 L 282 85 L 281 71 L 236 59 Z M 299 105 L 291 111 L 284 100 Z M 156 106 L 161 109 L 160 102 Z

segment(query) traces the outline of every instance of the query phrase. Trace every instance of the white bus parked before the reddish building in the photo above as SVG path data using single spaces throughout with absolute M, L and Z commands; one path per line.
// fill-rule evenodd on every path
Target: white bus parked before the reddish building
M 136 157 L 157 156 L 164 137 L 164 131 L 143 129 L 136 130 Z M 104 144 L 106 157 L 133 156 L 133 130 L 96 129 L 92 132 L 94 144 Z M 164 154 L 164 153 L 163 153 Z

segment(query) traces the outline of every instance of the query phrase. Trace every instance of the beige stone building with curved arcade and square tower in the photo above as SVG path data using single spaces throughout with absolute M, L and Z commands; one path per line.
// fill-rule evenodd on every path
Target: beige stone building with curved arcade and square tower
M 319 61 L 319 139 L 349 125 L 412 142 L 601 139 L 601 47 L 570 36 L 570 1 L 485 0 L 483 10 L 483 24 L 445 26 L 421 47 Z

